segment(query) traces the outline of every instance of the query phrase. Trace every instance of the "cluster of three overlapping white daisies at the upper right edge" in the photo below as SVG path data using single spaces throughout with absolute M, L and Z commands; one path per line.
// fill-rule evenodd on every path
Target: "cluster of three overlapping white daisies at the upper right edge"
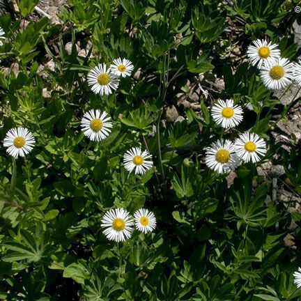
M 266 87 L 279 90 L 293 80 L 301 85 L 301 61 L 291 63 L 282 58 L 276 44 L 257 39 L 253 45 L 249 45 L 247 56 L 250 63 L 260 70 L 261 80 Z

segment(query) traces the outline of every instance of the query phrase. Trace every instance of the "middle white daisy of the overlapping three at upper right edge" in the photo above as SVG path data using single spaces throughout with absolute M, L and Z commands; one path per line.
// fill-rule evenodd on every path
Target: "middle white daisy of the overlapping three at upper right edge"
M 294 70 L 293 63 L 288 59 L 270 59 L 263 65 L 260 76 L 267 88 L 279 90 L 291 84 Z

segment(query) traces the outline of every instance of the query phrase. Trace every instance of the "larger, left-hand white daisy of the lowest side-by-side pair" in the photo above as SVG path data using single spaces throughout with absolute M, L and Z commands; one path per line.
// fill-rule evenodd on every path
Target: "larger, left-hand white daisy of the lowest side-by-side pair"
M 124 241 L 132 236 L 134 221 L 123 208 L 111 209 L 102 217 L 100 226 L 109 240 Z

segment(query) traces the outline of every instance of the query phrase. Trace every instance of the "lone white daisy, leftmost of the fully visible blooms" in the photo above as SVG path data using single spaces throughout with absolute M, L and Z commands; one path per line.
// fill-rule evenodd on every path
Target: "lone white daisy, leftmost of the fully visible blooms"
M 31 152 L 35 143 L 33 135 L 26 128 L 9 130 L 3 140 L 3 146 L 8 147 L 6 151 L 13 157 L 25 157 Z

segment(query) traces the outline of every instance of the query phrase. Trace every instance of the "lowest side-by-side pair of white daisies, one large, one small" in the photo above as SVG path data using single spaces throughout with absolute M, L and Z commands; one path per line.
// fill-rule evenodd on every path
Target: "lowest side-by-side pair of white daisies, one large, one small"
M 123 208 L 111 209 L 102 217 L 100 226 L 109 240 L 124 241 L 132 236 L 133 226 L 143 233 L 152 232 L 156 227 L 155 215 L 147 209 L 139 209 L 134 218 Z

